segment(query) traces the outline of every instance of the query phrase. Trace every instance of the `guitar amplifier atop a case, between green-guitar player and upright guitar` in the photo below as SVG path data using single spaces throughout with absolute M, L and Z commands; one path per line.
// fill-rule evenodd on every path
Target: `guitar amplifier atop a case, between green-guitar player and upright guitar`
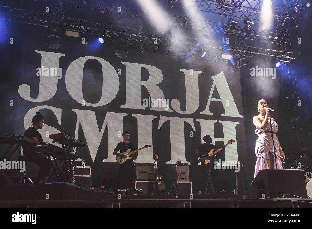
M 134 180 L 155 180 L 154 164 L 135 163 L 133 166 Z

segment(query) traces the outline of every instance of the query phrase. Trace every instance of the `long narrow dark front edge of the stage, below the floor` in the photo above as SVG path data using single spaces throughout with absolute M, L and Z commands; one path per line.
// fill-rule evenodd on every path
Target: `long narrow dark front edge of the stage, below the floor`
M 126 198 L 126 197 L 124 197 Z M 153 197 L 151 197 L 153 198 Z M 0 201 L 0 208 L 311 208 L 312 199 L 103 199 Z

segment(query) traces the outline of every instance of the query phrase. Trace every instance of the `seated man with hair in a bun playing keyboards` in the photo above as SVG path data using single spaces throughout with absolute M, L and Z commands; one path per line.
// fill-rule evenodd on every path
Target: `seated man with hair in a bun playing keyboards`
M 33 140 L 34 145 L 38 145 L 41 141 L 43 141 L 41 134 L 38 132 L 38 129 L 42 129 L 43 124 L 44 117 L 40 114 L 40 112 L 36 112 L 36 115 L 32 118 L 32 126 L 29 127 L 24 133 L 26 137 Z M 51 170 L 50 160 L 45 155 L 35 152 L 31 146 L 23 147 L 23 155 L 28 156 L 40 167 L 37 184 L 45 183 Z

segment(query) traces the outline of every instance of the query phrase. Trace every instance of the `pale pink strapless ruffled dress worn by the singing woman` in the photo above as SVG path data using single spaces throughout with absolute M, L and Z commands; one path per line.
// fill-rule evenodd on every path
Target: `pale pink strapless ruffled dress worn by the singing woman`
M 262 121 L 263 122 L 263 121 Z M 276 122 L 272 121 L 272 129 L 274 132 L 277 132 L 278 130 L 278 125 Z M 271 131 L 271 124 L 270 120 L 268 121 L 268 126 L 266 127 L 266 131 Z M 268 153 L 271 153 L 274 158 L 273 154 L 273 143 L 272 143 L 272 134 L 266 134 L 263 133 L 261 134 L 261 131 L 259 128 L 256 128 L 255 134 L 259 135 L 257 141 L 256 141 L 256 156 L 257 156 L 257 161 L 256 161 L 256 166 L 255 166 L 255 177 L 259 170 L 261 169 L 268 169 L 268 164 L 266 163 L 266 155 Z M 278 147 L 280 145 L 276 134 L 273 134 L 274 137 L 274 146 L 275 146 L 275 155 L 276 155 L 276 163 L 277 163 L 277 169 L 283 169 L 282 161 L 280 160 L 280 148 Z M 274 169 L 276 169 L 275 166 L 275 161 L 274 161 Z

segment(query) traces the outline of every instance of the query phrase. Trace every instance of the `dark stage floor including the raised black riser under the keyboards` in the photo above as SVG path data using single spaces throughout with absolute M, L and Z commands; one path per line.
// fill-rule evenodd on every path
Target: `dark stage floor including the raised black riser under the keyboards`
M 0 187 L 0 208 L 311 208 L 310 198 L 119 194 L 66 182 Z

